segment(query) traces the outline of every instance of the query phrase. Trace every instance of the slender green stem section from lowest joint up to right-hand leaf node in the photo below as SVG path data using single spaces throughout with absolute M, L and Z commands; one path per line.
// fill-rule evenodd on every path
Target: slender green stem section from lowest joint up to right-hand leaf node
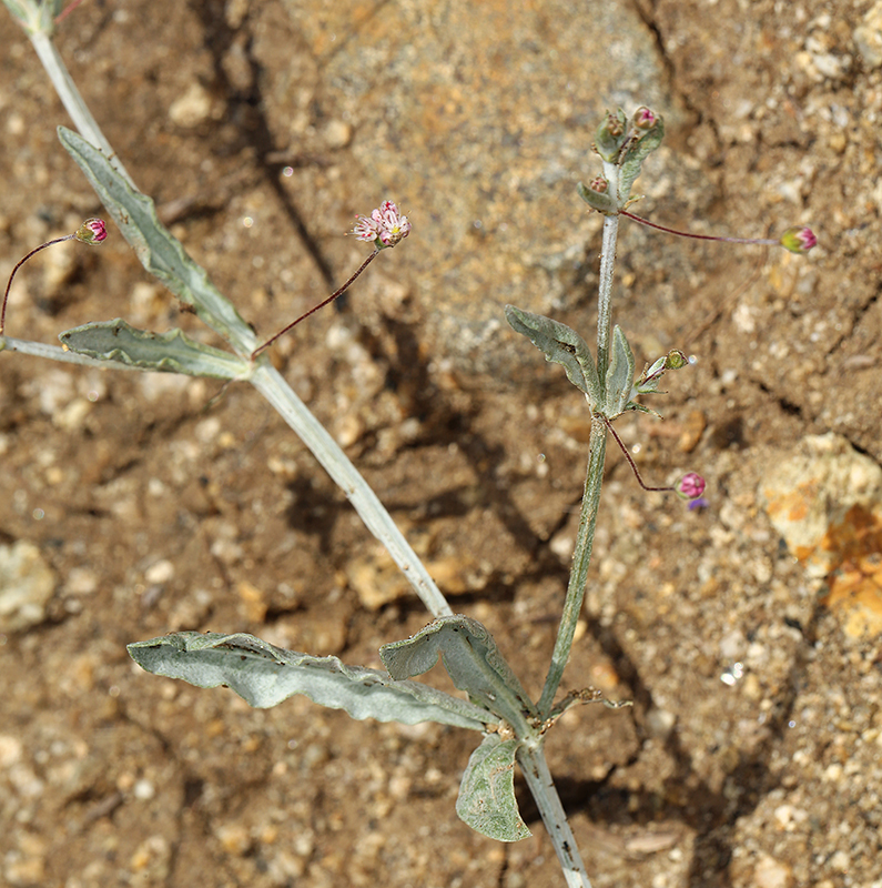
M 585 493 L 581 501 L 581 517 L 579 518 L 579 533 L 576 537 L 576 551 L 572 555 L 572 569 L 567 585 L 567 598 L 564 602 L 564 613 L 557 630 L 555 649 L 551 654 L 551 666 L 545 679 L 543 695 L 539 697 L 539 716 L 547 718 L 555 700 L 555 694 L 564 677 L 564 669 L 572 648 L 572 638 L 576 634 L 576 623 L 581 613 L 581 603 L 585 598 L 585 584 L 588 579 L 588 565 L 591 561 L 591 549 L 595 541 L 595 526 L 597 525 L 597 509 L 600 504 L 600 487 L 604 483 L 604 462 L 607 453 L 607 427 L 599 416 L 591 418 L 591 436 L 589 440 L 588 473 L 585 478 Z

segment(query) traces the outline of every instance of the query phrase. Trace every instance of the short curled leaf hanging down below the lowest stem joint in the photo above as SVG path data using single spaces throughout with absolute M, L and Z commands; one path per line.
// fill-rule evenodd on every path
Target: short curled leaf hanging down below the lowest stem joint
M 459 785 L 456 813 L 481 836 L 520 841 L 533 835 L 515 798 L 515 756 L 519 740 L 488 734 L 472 754 Z

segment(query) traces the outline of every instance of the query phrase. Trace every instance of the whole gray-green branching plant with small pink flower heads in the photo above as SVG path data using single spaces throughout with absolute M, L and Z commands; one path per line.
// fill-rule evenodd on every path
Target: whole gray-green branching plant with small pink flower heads
M 355 718 L 372 717 L 404 724 L 434 720 L 477 731 L 480 741 L 465 768 L 456 804 L 459 817 L 495 839 L 514 841 L 528 836 L 514 791 L 517 763 L 536 799 L 567 885 L 590 888 L 576 838 L 545 759 L 544 743 L 548 730 L 569 706 L 602 699 L 598 692 L 587 688 L 570 692 L 555 703 L 585 595 L 607 433 L 611 433 L 622 447 L 645 490 L 670 491 L 695 503 L 700 502 L 704 491 L 703 478 L 695 472 L 685 474 L 671 486 L 648 487 L 612 427 L 615 420 L 629 411 L 652 413 L 635 398 L 657 393 L 659 381 L 667 371 L 687 364 L 683 353 L 672 350 L 636 379 L 635 357 L 628 341 L 621 329 L 611 324 L 619 218 L 625 215 L 678 233 L 640 220 L 627 211 L 635 200 L 630 192 L 642 162 L 661 142 L 662 119 L 648 108 L 638 109 L 630 120 L 621 110 L 608 113 L 597 130 L 594 144 L 602 161 L 602 175 L 595 178 L 589 186 L 580 184 L 578 188 L 589 205 L 605 216 L 596 357 L 581 336 L 565 324 L 506 306 L 506 317 L 513 329 L 528 336 L 545 353 L 546 360 L 564 366 L 569 381 L 584 393 L 591 416 L 588 468 L 572 569 L 548 674 L 539 699 L 534 702 L 487 629 L 475 619 L 453 614 L 374 492 L 264 354 L 281 335 L 344 293 L 381 251 L 407 238 L 410 232 L 407 216 L 402 215 L 392 201 L 386 201 L 369 215 L 358 216 L 354 233 L 359 241 L 373 244 L 373 252 L 338 290 L 258 344 L 252 329 L 232 303 L 212 286 L 207 274 L 160 224 L 152 201 L 134 188 L 85 108 L 51 41 L 61 3 L 39 3 L 36 0 L 4 2 L 28 32 L 81 131 L 81 135 L 77 135 L 60 128 L 62 145 L 135 248 L 144 268 L 182 302 L 192 306 L 201 320 L 224 337 L 231 350 L 194 342 L 180 330 L 166 333 L 136 330 L 120 319 L 63 332 L 60 334 L 62 349 L 0 335 L 0 350 L 87 365 L 185 373 L 250 383 L 278 411 L 345 491 L 366 526 L 387 547 L 435 617 L 412 638 L 381 648 L 385 670 L 349 666 L 336 657 L 284 650 L 245 634 L 179 632 L 133 643 L 129 645 L 129 653 L 149 672 L 181 678 L 197 687 L 229 686 L 252 706 L 275 706 L 294 694 L 304 694 L 321 705 L 343 708 Z M 69 238 L 87 243 L 100 242 L 104 238 L 103 223 L 90 220 Z M 780 243 L 793 252 L 805 252 L 815 240 L 809 229 L 793 228 L 785 232 Z M 48 245 L 41 245 L 29 255 Z M 4 310 L 6 301 L 0 311 L 0 333 Z M 467 699 L 412 680 L 435 666 L 439 657 L 454 685 L 466 692 Z

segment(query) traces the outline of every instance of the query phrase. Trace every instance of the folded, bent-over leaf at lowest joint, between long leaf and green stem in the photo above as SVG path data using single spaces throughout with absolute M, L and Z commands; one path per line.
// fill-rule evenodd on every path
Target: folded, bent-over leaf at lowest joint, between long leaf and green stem
M 379 648 L 393 678 L 427 673 L 438 655 L 453 683 L 473 703 L 505 719 L 521 737 L 534 733 L 535 705 L 493 636 L 476 619 L 459 614 L 439 617 L 412 638 Z

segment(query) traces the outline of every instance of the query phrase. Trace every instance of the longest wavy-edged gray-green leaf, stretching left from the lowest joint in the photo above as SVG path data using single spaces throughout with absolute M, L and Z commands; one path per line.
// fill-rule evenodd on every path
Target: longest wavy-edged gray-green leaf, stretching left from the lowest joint
M 438 722 L 472 730 L 485 730 L 493 720 L 474 704 L 419 682 L 394 682 L 377 669 L 285 650 L 245 633 L 179 632 L 135 642 L 128 650 L 150 673 L 196 687 L 225 685 L 260 708 L 304 694 L 322 706 L 345 709 L 353 718 L 405 725 Z

